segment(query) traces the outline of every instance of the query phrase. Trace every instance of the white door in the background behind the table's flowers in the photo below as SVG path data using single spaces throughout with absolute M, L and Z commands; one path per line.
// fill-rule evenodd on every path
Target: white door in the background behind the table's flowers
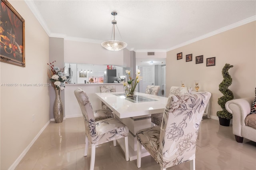
M 155 85 L 155 66 L 140 66 L 140 74 L 142 81 L 140 81 L 140 92 L 145 93 L 148 85 Z

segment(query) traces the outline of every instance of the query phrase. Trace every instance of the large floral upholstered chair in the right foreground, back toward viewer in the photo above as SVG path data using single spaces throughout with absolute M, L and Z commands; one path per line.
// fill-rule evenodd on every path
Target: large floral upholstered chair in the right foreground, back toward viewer
M 141 166 L 141 148 L 144 146 L 163 170 L 190 160 L 190 170 L 195 170 L 196 138 L 210 96 L 208 92 L 171 95 L 162 125 L 136 133 L 137 167 Z

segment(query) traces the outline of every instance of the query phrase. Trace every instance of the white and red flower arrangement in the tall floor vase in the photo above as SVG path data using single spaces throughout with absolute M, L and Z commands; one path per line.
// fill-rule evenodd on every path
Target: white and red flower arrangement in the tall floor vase
M 64 90 L 65 89 L 65 81 L 67 79 L 66 76 L 64 76 L 64 68 L 60 69 L 59 67 L 54 67 L 54 62 L 48 64 L 50 66 L 50 69 L 48 71 L 48 76 L 50 78 L 50 81 L 52 81 L 53 86 L 56 90 Z

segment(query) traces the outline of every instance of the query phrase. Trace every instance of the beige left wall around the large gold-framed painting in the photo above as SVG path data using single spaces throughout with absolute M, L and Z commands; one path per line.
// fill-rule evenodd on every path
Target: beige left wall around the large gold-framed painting
M 48 35 L 24 1 L 8 1 L 25 20 L 26 67 L 1 62 L 1 83 L 47 83 Z M 48 123 L 48 88 L 1 87 L 1 170 L 10 168 Z

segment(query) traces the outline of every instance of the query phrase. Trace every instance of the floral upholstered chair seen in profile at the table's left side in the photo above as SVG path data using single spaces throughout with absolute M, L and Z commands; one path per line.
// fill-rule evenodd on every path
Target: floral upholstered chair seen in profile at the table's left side
M 90 142 L 90 144 L 92 145 L 90 170 L 94 169 L 95 147 L 99 144 L 123 137 L 125 139 L 125 159 L 126 161 L 128 161 L 128 127 L 116 118 L 95 121 L 92 106 L 85 91 L 83 91 L 83 89 L 81 88 L 78 88 L 74 91 L 74 94 L 80 105 L 80 109 L 84 117 L 84 125 L 86 132 L 84 156 L 87 156 L 88 142 Z

